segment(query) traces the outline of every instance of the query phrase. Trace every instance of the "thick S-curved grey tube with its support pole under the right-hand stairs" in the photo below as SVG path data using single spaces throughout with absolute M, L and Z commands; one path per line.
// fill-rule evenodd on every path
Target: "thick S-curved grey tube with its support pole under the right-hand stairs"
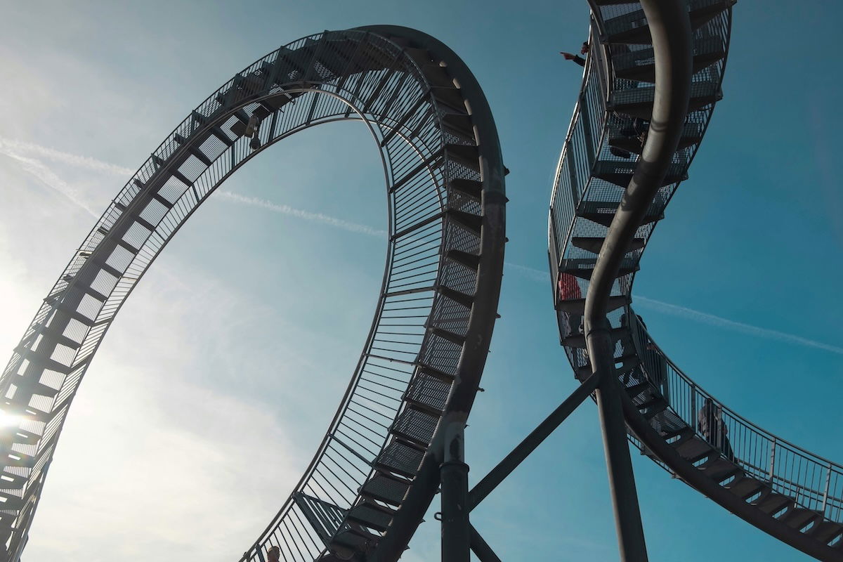
M 609 294 L 632 238 L 667 174 L 688 112 L 691 83 L 690 19 L 681 0 L 642 0 L 652 36 L 656 87 L 642 158 L 609 226 L 585 300 L 584 326 L 592 376 L 600 376 L 597 401 L 623 560 L 646 560 L 647 548 L 632 474 L 620 388 L 606 313 Z

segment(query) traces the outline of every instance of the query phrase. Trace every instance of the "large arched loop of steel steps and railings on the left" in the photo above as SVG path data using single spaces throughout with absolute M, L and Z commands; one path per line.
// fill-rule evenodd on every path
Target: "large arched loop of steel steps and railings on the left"
M 447 47 L 428 50 L 428 43 L 441 45 L 413 29 L 377 27 L 284 45 L 192 111 L 121 190 L 0 378 L 0 409 L 19 420 L 0 432 L 3 562 L 20 557 L 67 409 L 149 265 L 250 158 L 297 131 L 343 119 L 368 126 L 384 163 L 384 281 L 325 439 L 243 560 L 262 562 L 269 546 L 297 561 L 378 550 L 415 488 L 439 421 L 453 411 L 467 415 L 502 276 L 506 200 L 497 131 L 470 72 Z M 459 389 L 463 398 L 455 399 Z M 427 503 L 434 492 L 425 491 Z

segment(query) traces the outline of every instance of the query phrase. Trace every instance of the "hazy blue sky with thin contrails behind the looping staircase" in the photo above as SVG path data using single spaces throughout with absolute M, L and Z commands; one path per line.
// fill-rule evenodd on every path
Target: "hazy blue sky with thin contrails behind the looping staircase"
M 0 350 L 17 344 L 94 216 L 207 94 L 303 35 L 401 24 L 469 64 L 512 170 L 502 319 L 467 436 L 472 481 L 575 388 L 550 304 L 546 213 L 581 78 L 557 53 L 586 35 L 583 0 L 0 0 L 0 13 Z M 725 99 L 642 260 L 634 304 L 718 399 L 839 462 L 843 8 L 741 0 L 734 14 Z M 105 338 L 27 562 L 236 560 L 312 457 L 382 276 L 378 154 L 363 126 L 322 126 L 221 190 Z M 651 559 L 808 559 L 633 461 Z M 616 559 L 594 405 L 472 518 L 505 560 Z M 411 562 L 438 559 L 427 519 Z

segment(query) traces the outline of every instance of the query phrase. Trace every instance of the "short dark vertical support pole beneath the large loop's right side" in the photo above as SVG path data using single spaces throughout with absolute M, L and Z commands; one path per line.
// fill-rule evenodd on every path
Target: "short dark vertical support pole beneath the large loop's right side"
M 446 420 L 448 418 L 446 417 Z M 443 420 L 444 421 L 444 420 Z M 469 562 L 469 465 L 465 463 L 465 421 L 446 422 L 442 479 L 442 562 Z

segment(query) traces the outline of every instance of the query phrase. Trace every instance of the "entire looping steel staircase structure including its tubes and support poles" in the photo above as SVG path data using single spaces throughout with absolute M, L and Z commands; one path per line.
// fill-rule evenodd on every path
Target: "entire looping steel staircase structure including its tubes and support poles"
M 3 411 L 20 420 L 0 433 L 3 560 L 19 560 L 67 408 L 154 258 L 239 166 L 295 131 L 341 119 L 368 126 L 384 163 L 383 286 L 329 431 L 241 562 L 266 562 L 271 546 L 283 560 L 392 562 L 440 485 L 443 560 L 468 560 L 469 546 L 482 562 L 499 560 L 468 511 L 589 394 L 621 559 L 647 559 L 627 439 L 755 527 L 818 559 L 843 559 L 843 468 L 713 399 L 631 308 L 643 250 L 722 98 L 733 0 L 590 4 L 591 51 L 549 221 L 561 343 L 583 383 L 524 442 L 468 491 L 462 429 L 496 318 L 505 242 L 505 169 L 486 99 L 428 35 L 326 31 L 260 59 L 194 110 L 44 299 L 0 379 Z

